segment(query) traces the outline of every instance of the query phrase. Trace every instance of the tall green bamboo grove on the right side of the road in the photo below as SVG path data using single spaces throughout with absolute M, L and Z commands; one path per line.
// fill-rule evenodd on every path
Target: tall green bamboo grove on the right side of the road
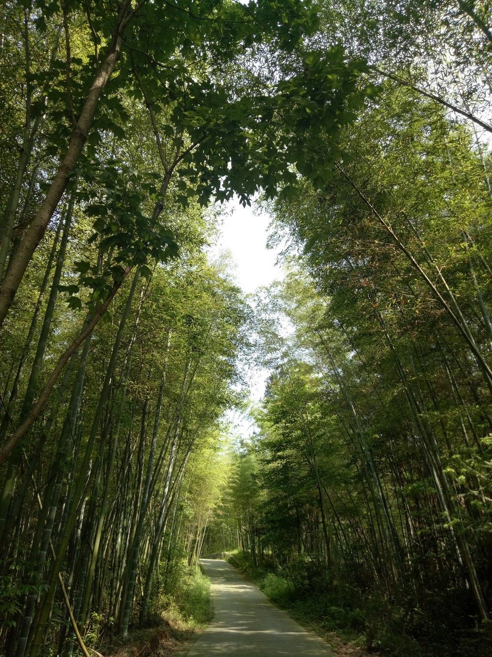
M 487 146 L 393 82 L 342 133 L 349 157 L 322 189 L 307 172 L 268 204 L 291 255 L 256 300 L 271 374 L 241 547 L 323 631 L 390 654 L 486 653 Z

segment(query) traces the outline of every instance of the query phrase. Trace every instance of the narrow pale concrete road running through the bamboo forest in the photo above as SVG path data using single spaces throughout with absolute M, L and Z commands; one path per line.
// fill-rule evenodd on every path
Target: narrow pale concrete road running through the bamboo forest
M 333 655 L 327 643 L 277 609 L 226 561 L 201 559 L 200 563 L 212 582 L 215 616 L 186 653 L 187 657 Z

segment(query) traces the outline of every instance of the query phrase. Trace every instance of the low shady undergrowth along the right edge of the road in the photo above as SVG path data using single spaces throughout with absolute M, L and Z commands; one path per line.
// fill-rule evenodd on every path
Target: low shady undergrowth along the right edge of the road
M 455 624 L 450 635 L 445 613 L 459 618 L 453 598 L 429 599 L 429 607 L 418 608 L 411 599 L 389 601 L 376 591 L 361 597 L 350 583 L 334 591 L 310 564 L 289 564 L 274 572 L 270 564 L 253 566 L 249 555 L 232 553 L 229 562 L 252 579 L 265 595 L 289 612 L 300 625 L 312 629 L 332 643 L 333 633 L 360 650 L 391 657 L 487 657 L 492 644 L 484 629 L 464 631 Z M 434 607 L 434 609 L 433 609 Z M 441 610 L 444 610 L 442 612 Z M 466 621 L 462 607 L 463 625 Z

